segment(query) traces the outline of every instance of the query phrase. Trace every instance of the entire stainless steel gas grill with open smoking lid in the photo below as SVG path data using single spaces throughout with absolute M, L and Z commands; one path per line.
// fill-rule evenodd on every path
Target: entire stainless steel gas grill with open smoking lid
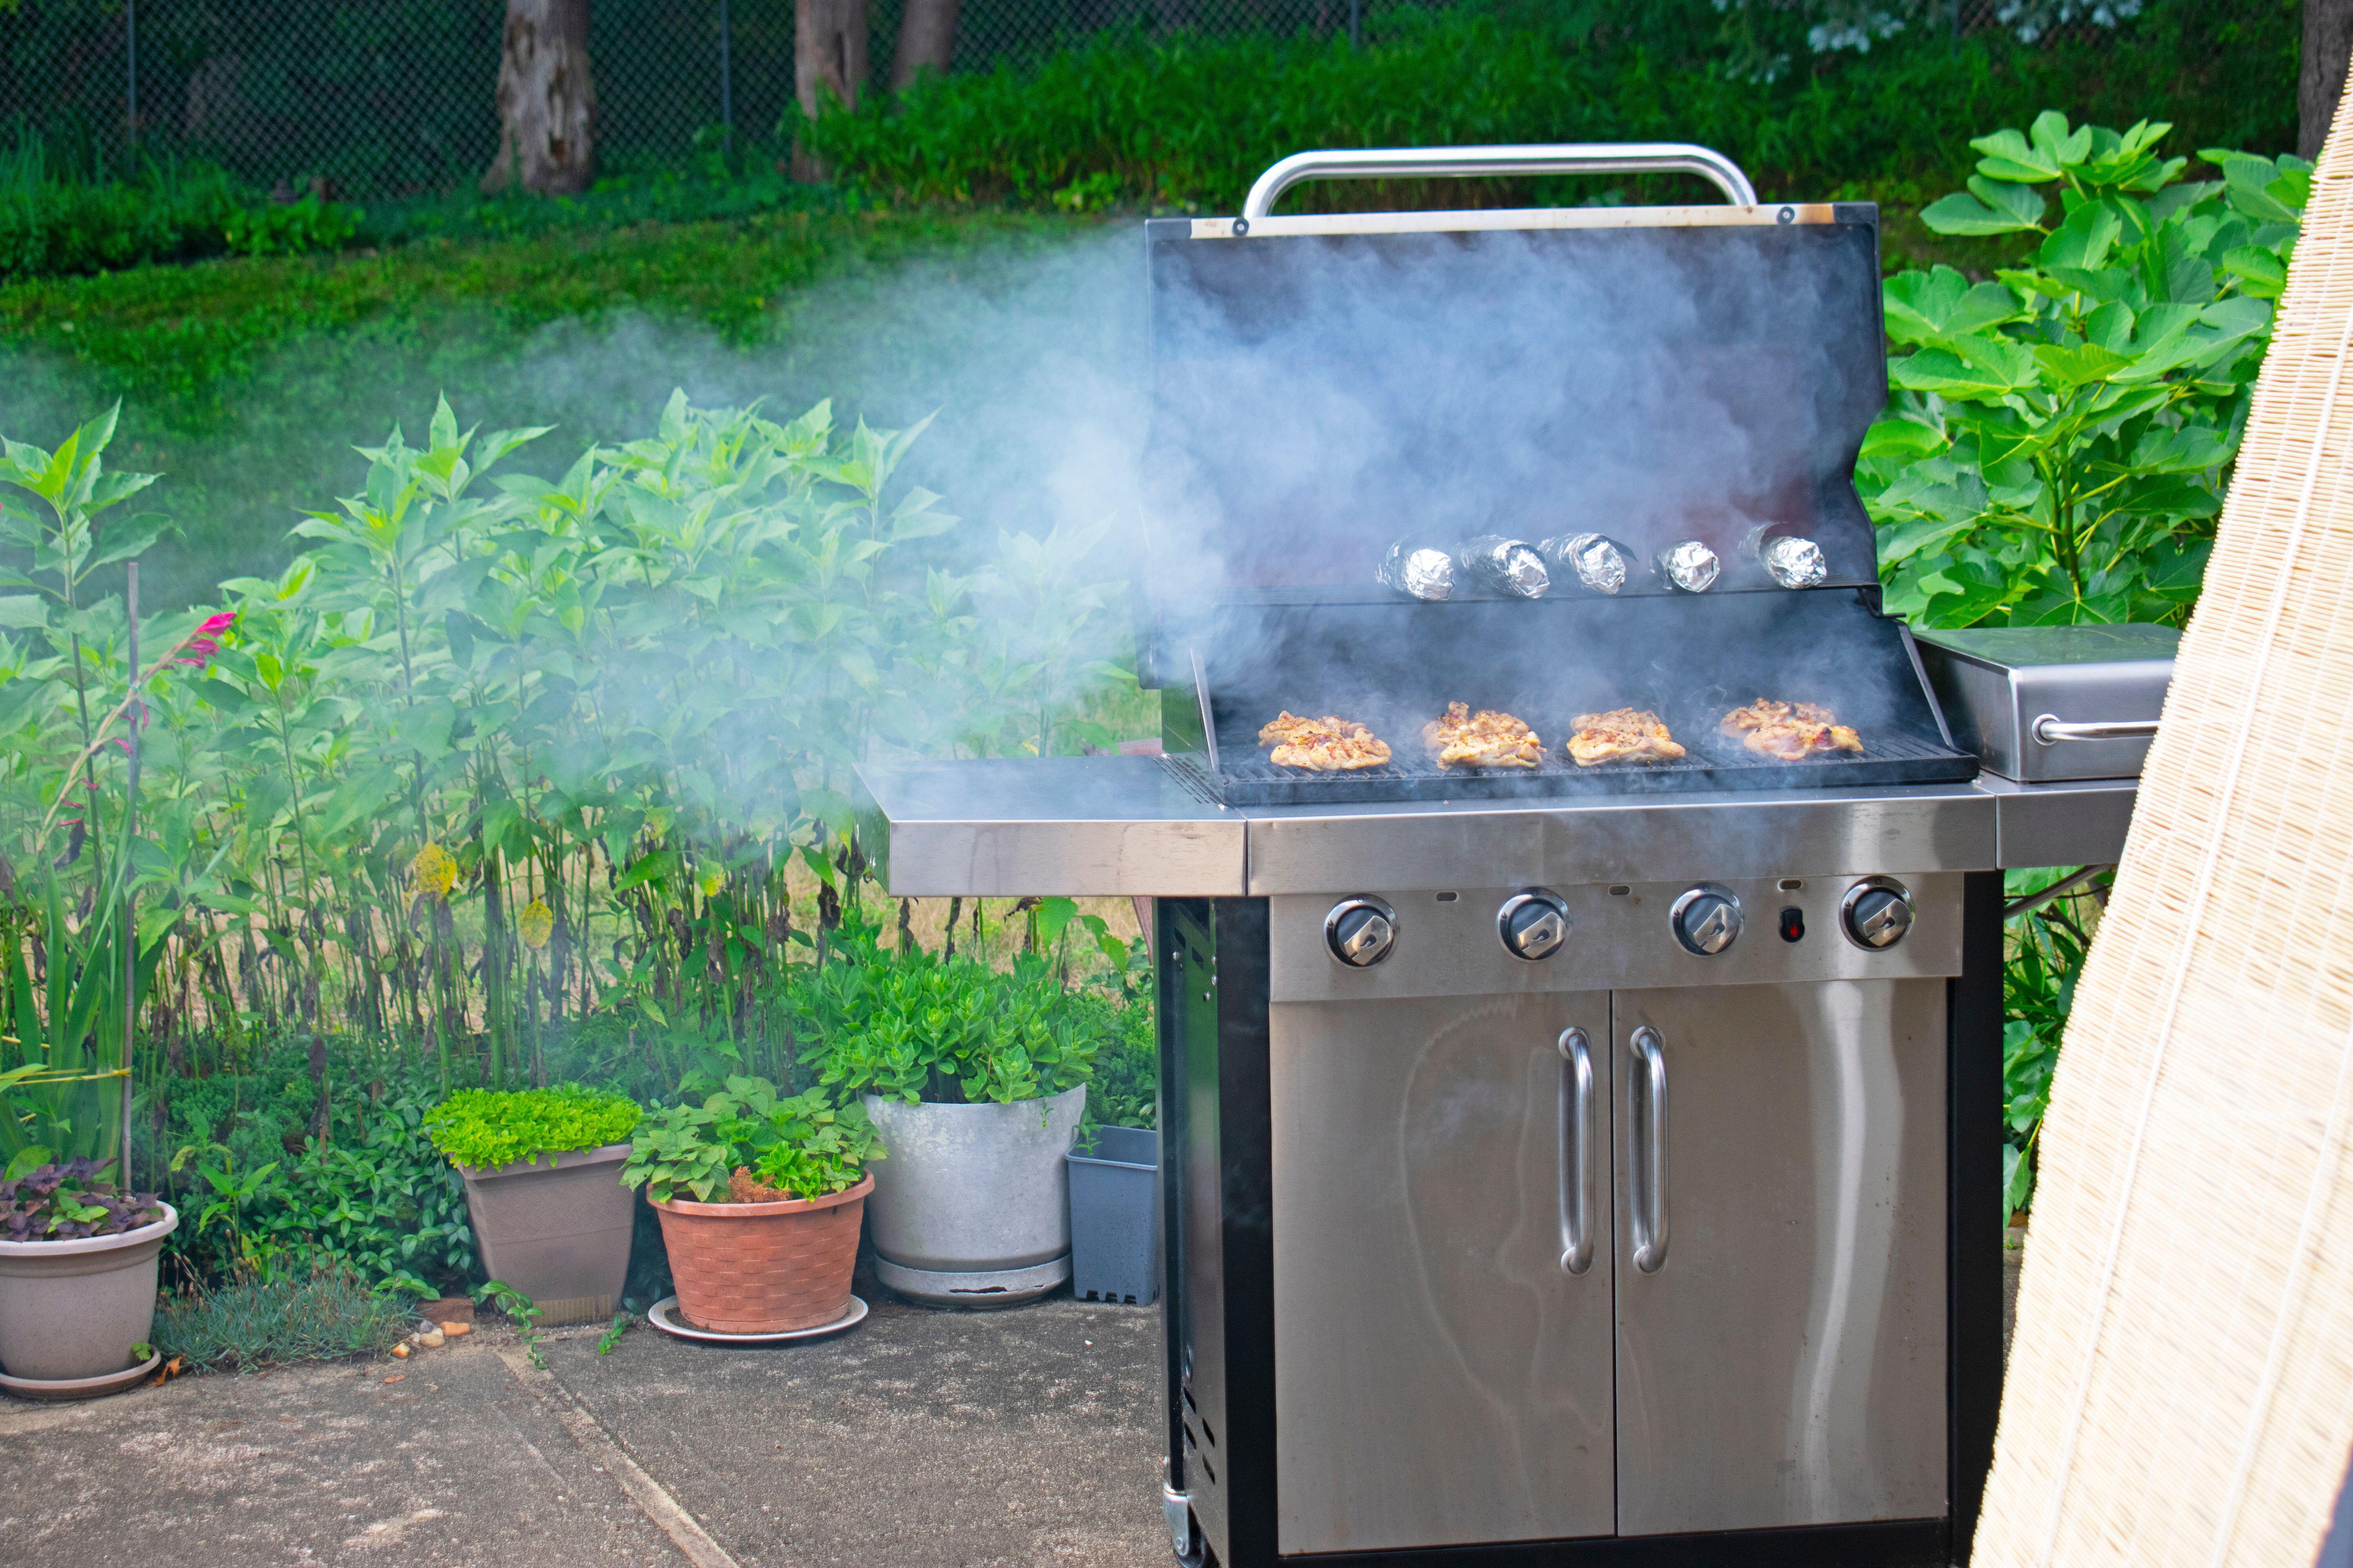
M 1871 207 L 1699 148 L 1278 172 L 1515 160 L 1741 205 L 1148 223 L 1167 755 L 868 766 L 861 837 L 899 896 L 1158 900 L 1184 1561 L 1948 1563 L 2000 1396 L 2000 867 L 2113 860 L 2134 785 L 1979 773 L 1880 616 Z M 1861 750 L 1760 755 L 1760 698 Z M 1440 766 L 1447 703 L 1541 759 Z M 1682 757 L 1574 762 L 1609 710 Z M 1388 762 L 1280 766 L 1280 712 Z

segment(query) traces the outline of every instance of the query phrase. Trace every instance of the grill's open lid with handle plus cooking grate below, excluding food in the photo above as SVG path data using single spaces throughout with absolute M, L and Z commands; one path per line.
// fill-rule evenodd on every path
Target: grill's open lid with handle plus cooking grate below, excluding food
M 1687 167 L 1699 148 L 1301 155 L 1344 172 Z M 1391 162 L 1381 162 L 1391 160 Z M 1405 162 L 1421 160 L 1421 162 Z M 1706 165 L 1713 160 L 1713 165 Z M 1459 165 L 1459 167 L 1457 167 Z M 1341 169 L 1332 169 L 1341 172 Z M 1146 226 L 1153 433 L 1139 675 L 1172 757 L 1224 804 L 1969 778 L 1901 625 L 1854 491 L 1887 402 L 1871 205 L 1266 216 Z M 1379 581 L 1400 541 L 1602 534 L 1619 595 L 1511 597 L 1459 571 L 1445 602 Z M 1819 585 L 1762 545 L 1812 541 Z M 1657 569 L 1715 552 L 1706 592 Z M 1864 757 L 1781 764 L 1718 736 L 1729 708 L 1812 701 Z M 1534 771 L 1438 769 L 1449 701 L 1529 722 Z M 1280 710 L 1388 741 L 1360 773 L 1275 769 Z M 1689 757 L 1579 769 L 1581 712 L 1649 708 Z M 1729 750 L 1727 750 L 1729 748 Z

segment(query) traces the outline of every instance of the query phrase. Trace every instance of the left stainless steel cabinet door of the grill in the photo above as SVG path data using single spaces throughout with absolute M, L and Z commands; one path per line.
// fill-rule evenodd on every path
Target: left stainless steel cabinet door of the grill
M 1607 994 L 1275 1004 L 1271 1079 L 1280 1549 L 1612 1533 Z

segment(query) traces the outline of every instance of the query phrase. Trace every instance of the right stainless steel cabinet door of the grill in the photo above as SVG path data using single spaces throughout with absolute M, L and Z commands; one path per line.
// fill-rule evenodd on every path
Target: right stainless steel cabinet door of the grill
M 1946 1512 L 1944 987 L 1612 997 L 1619 1533 Z

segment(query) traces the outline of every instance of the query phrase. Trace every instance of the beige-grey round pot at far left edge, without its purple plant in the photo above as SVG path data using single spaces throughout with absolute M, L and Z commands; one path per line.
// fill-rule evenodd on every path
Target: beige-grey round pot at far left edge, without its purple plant
M 165 1204 L 120 1237 L 0 1241 L 0 1371 L 64 1382 L 132 1366 L 132 1345 L 155 1331 L 155 1253 L 176 1225 Z

